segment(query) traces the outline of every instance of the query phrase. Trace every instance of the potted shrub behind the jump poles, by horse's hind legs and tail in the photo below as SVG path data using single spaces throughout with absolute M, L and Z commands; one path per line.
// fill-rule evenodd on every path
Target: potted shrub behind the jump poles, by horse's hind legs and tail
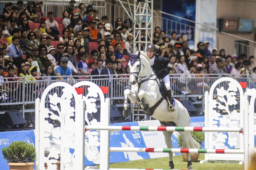
M 193 137 L 201 146 L 203 146 L 202 143 L 204 142 L 204 132 L 191 132 L 191 134 L 192 134 L 192 137 Z M 184 148 L 184 144 L 183 144 L 183 141 L 182 141 L 182 139 L 181 139 L 180 134 L 178 134 L 177 141 L 178 141 L 178 146 L 177 146 L 177 147 Z M 191 161 L 192 161 L 192 162 L 197 162 L 199 155 L 200 155 L 199 153 L 190 154 Z M 187 157 L 187 154 L 186 154 L 186 153 L 182 153 L 182 158 L 183 158 L 184 162 L 187 162 L 187 161 L 188 161 L 188 157 Z

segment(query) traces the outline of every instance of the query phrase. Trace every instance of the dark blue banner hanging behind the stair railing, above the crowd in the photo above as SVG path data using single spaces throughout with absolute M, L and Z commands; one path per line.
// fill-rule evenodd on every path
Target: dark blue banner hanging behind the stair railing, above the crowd
M 196 21 L 196 0 L 162 0 L 162 11 Z M 171 37 L 171 32 L 176 30 L 177 37 L 186 35 L 188 43 L 194 44 L 194 23 L 166 14 L 162 14 L 162 17 L 165 19 L 162 20 L 163 28 L 161 29 L 168 33 L 169 38 Z

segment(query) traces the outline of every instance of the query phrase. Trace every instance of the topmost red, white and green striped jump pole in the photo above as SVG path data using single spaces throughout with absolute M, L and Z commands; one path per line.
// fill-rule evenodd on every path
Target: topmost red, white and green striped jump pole
M 86 130 L 138 130 L 138 131 L 180 131 L 180 132 L 239 132 L 241 127 L 175 127 L 175 126 L 85 126 Z

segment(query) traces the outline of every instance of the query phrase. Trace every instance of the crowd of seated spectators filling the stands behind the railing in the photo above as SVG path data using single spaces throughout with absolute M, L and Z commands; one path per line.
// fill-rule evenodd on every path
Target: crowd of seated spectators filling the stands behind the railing
M 0 44 L 0 79 L 7 77 L 12 78 L 8 81 L 15 81 L 17 77 L 24 77 L 34 81 L 32 86 L 36 88 L 37 78 L 33 76 L 41 76 L 42 80 L 46 76 L 58 76 L 56 79 L 70 77 L 73 80 L 74 75 L 75 79 L 84 75 L 109 78 L 110 75 L 120 77 L 117 75 L 123 74 L 128 77 L 127 51 L 145 51 L 144 44 L 135 44 L 133 49 L 134 30 L 129 19 L 117 18 L 113 27 L 108 16 L 100 17 L 92 5 L 71 0 L 61 19 L 55 18 L 52 11 L 45 15 L 43 2 L 28 1 L 24 8 L 23 1 L 19 0 L 16 5 L 6 3 L 0 15 L 0 41 L 5 42 Z M 143 24 L 145 27 L 146 23 Z M 146 36 L 145 30 L 141 30 L 141 41 Z M 170 59 L 170 76 L 181 74 L 180 86 L 172 86 L 173 91 L 179 94 L 193 91 L 183 82 L 184 77 L 203 77 L 208 73 L 211 74 L 207 75 L 209 77 L 235 75 L 245 79 L 256 78 L 254 56 L 229 55 L 225 49 L 213 48 L 210 51 L 209 41 L 199 42 L 197 49 L 190 49 L 186 35 L 177 37 L 173 31 L 169 38 L 160 27 L 155 27 L 153 44 L 157 47 L 157 54 Z M 201 79 L 196 83 L 197 87 L 205 87 L 206 90 L 209 85 Z M 128 87 L 128 84 L 123 86 Z M 18 87 L 0 83 L 1 90 L 8 88 L 13 91 Z

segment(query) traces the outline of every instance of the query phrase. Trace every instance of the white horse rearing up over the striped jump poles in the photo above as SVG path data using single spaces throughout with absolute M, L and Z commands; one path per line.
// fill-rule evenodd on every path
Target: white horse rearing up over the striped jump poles
M 132 55 L 129 62 L 130 67 L 130 83 L 132 84 L 131 90 L 125 90 L 125 103 L 123 115 L 128 117 L 130 110 L 128 107 L 128 98 L 132 103 L 139 102 L 144 113 L 149 111 L 148 108 L 154 107 L 162 98 L 159 90 L 159 80 L 156 80 L 156 75 L 151 67 L 151 62 L 147 54 L 143 51 L 138 52 L 137 56 Z M 157 83 L 158 82 L 158 83 Z M 172 113 L 168 110 L 167 100 L 160 100 L 160 104 L 154 110 L 152 118 L 160 121 L 161 126 L 190 126 L 190 116 L 186 108 L 178 101 L 175 100 L 176 111 Z M 168 148 L 173 148 L 172 133 L 163 132 L 165 143 Z M 179 132 L 184 143 L 185 148 L 200 148 L 200 144 L 194 140 L 190 132 Z M 192 169 L 190 153 L 188 156 L 188 168 Z M 173 169 L 173 153 L 169 153 L 169 168 Z

